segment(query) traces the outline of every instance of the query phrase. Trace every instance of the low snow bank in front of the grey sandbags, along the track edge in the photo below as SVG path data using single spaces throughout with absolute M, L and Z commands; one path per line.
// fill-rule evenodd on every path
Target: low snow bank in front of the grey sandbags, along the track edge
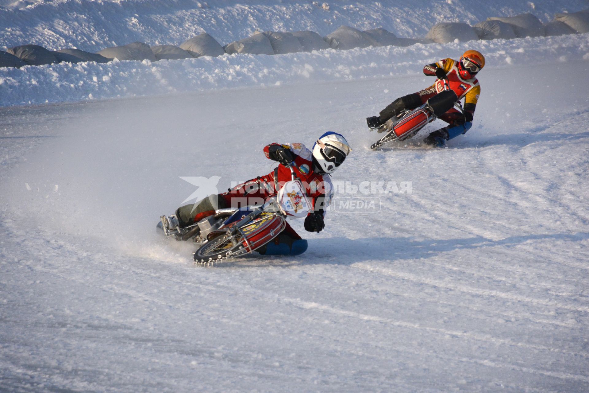
M 185 93 L 297 82 L 421 73 L 423 64 L 478 49 L 487 67 L 589 59 L 589 34 L 465 43 L 326 49 L 284 55 L 203 56 L 186 60 L 84 62 L 0 69 L 0 105 Z M 481 75 L 484 80 L 484 75 Z

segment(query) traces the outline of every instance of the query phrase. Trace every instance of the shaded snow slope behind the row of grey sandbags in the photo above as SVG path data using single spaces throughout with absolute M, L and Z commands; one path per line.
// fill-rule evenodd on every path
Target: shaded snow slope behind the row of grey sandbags
M 531 12 L 547 22 L 559 12 L 587 8 L 585 0 L 403 0 L 331 2 L 327 9 L 312 2 L 257 0 L 32 0 L 0 8 L 0 47 L 37 44 L 55 50 L 96 52 L 140 41 L 177 45 L 205 31 L 221 45 L 254 31 L 312 30 L 325 36 L 340 25 L 360 31 L 385 28 L 397 37 L 423 37 L 438 22 L 474 25 L 488 16 Z M 31 4 L 32 3 L 32 4 Z M 304 44 L 303 44 L 304 46 Z M 186 49 L 186 48 L 183 48 Z

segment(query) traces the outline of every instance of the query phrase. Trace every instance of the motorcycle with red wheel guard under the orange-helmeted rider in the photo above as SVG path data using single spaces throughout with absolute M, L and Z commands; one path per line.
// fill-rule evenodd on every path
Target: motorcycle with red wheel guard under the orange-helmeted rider
M 385 133 L 385 136 L 370 146 L 370 150 L 376 150 L 385 143 L 392 141 L 404 141 L 414 137 L 419 130 L 440 117 L 442 114 L 456 106 L 461 112 L 462 105 L 458 95 L 450 89 L 448 80 L 444 79 L 444 91 L 434 95 L 421 107 L 406 110 L 399 115 L 391 117 L 379 127 L 370 128 L 370 131 Z

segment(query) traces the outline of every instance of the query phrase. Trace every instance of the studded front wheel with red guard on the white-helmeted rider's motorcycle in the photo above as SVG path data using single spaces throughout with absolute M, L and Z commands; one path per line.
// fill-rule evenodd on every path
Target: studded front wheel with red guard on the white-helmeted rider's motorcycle
M 213 266 L 217 262 L 243 256 L 262 247 L 286 227 L 286 221 L 277 214 L 263 212 L 256 219 L 221 236 L 209 240 L 194 253 L 194 263 Z

